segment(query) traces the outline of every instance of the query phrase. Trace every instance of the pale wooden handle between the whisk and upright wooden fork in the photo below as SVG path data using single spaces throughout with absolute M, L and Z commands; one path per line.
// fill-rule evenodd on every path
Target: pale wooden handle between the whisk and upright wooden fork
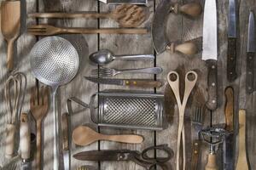
M 30 158 L 31 134 L 26 113 L 20 115 L 20 154 L 21 158 L 27 160 Z

